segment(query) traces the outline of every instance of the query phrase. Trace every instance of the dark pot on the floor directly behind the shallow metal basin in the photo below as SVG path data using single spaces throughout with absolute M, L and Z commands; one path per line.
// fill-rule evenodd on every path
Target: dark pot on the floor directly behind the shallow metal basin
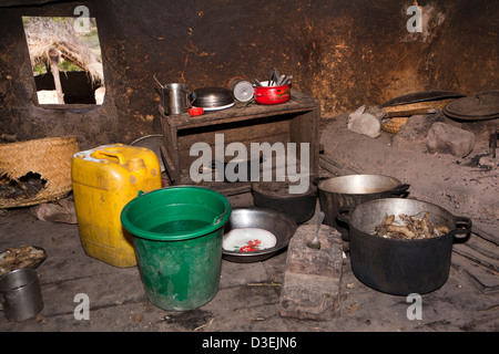
M 255 207 L 281 211 L 296 223 L 309 220 L 315 214 L 317 187 L 313 184 L 303 194 L 291 194 L 288 183 L 254 183 L 252 194 Z

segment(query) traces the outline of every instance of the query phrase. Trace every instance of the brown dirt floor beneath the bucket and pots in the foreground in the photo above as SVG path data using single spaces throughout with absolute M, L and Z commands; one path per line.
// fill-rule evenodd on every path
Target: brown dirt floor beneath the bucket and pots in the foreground
M 244 198 L 233 201 L 244 206 Z M 247 204 L 247 202 L 246 202 Z M 309 221 L 314 222 L 315 217 Z M 339 316 L 299 321 L 278 312 L 287 252 L 256 263 L 223 261 L 220 290 L 204 306 L 171 312 L 145 298 L 139 270 L 115 268 L 85 256 L 77 225 L 40 221 L 29 208 L 11 209 L 0 218 L 0 248 L 35 244 L 48 252 L 38 268 L 44 309 L 37 319 L 0 320 L 0 331 L 41 332 L 432 332 L 499 330 L 497 271 L 454 252 L 447 283 L 422 295 L 421 320 L 409 320 L 411 302 L 377 292 L 353 274 L 348 253 L 343 260 Z M 497 244 L 472 235 L 483 262 L 497 267 Z M 462 246 L 469 248 L 469 246 Z M 469 248 L 470 252 L 477 252 Z M 462 252 L 461 252 L 462 253 Z M 462 254 L 466 254 L 462 253 Z M 480 283 L 488 273 L 488 284 Z M 478 275 L 477 275 L 478 274 Z M 491 284 L 492 283 L 492 284 Z M 495 285 L 493 285 L 495 284 Z M 90 319 L 77 320 L 75 295 L 90 300 Z

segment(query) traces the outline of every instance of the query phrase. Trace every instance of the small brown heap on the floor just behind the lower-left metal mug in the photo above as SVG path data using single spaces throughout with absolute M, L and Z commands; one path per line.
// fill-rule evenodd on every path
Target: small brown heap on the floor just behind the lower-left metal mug
M 7 248 L 0 253 L 0 277 L 16 269 L 34 268 L 45 258 L 45 251 L 32 246 Z

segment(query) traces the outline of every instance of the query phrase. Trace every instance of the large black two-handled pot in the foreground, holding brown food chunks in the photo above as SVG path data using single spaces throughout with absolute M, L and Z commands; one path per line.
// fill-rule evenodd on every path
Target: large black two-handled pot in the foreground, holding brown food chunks
M 349 225 L 350 263 L 355 277 L 369 288 L 394 294 L 424 294 L 444 285 L 449 277 L 455 236 L 466 238 L 471 220 L 455 217 L 446 209 L 425 201 L 386 198 L 364 202 L 348 216 L 338 218 Z M 444 225 L 449 232 L 430 239 L 388 239 L 374 236 L 386 215 L 406 214 L 422 217 L 430 214 L 430 222 Z

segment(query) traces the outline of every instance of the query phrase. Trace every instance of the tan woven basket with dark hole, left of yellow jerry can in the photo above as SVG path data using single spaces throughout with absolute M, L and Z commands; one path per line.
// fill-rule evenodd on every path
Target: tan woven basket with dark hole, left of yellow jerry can
M 33 206 L 65 197 L 72 188 L 71 162 L 79 152 L 75 137 L 47 137 L 0 144 L 0 209 Z M 27 191 L 23 178 L 39 178 L 43 185 L 33 192 L 14 197 L 7 186 Z M 38 176 L 38 177 L 33 177 Z M 7 190 L 7 191 L 6 191 Z

